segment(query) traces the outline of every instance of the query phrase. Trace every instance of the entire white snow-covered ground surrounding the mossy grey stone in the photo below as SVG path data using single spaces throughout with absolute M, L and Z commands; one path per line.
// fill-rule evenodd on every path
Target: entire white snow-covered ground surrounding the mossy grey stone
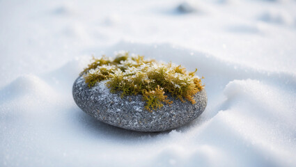
M 296 166 L 296 1 L 0 1 L 0 166 Z M 208 106 L 171 132 L 81 111 L 91 55 L 198 76 Z

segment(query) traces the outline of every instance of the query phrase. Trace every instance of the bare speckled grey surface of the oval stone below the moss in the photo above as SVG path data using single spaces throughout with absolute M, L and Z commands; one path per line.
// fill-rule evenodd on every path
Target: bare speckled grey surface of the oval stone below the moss
M 88 88 L 83 77 L 78 77 L 73 84 L 72 94 L 80 109 L 109 125 L 140 132 L 161 132 L 175 129 L 197 118 L 205 110 L 207 95 L 205 89 L 194 95 L 196 104 L 181 102 L 168 95 L 173 101 L 161 109 L 149 112 L 144 109 L 145 102 L 141 95 L 123 98 L 120 93 L 110 93 L 101 81 Z

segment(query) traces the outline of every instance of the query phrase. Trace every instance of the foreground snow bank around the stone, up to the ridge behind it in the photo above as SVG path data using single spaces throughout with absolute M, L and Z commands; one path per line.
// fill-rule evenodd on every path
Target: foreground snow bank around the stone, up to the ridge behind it
M 42 75 L 48 83 L 54 76 L 60 84 L 49 85 L 29 75 L 1 90 L 1 135 L 5 138 L 1 162 L 7 166 L 296 164 L 295 76 L 267 74 L 166 44 L 153 46 L 121 42 L 106 52 L 124 47 L 157 60 L 185 64 L 189 69 L 199 67 L 209 97 L 201 118 L 160 134 L 130 132 L 98 122 L 72 100 L 70 88 L 81 68 L 78 61 L 71 61 Z

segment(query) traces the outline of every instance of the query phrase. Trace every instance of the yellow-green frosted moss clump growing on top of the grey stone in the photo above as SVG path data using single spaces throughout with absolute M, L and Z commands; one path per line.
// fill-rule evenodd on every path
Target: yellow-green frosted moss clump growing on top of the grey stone
M 194 72 L 173 63 L 157 63 L 144 60 L 143 56 L 130 56 L 120 51 L 115 58 L 102 56 L 94 58 L 81 75 L 89 87 L 100 81 L 108 80 L 111 93 L 121 91 L 121 96 L 141 94 L 148 111 L 160 109 L 171 104 L 167 94 L 185 102 L 196 103 L 193 96 L 203 89 L 201 79 Z

